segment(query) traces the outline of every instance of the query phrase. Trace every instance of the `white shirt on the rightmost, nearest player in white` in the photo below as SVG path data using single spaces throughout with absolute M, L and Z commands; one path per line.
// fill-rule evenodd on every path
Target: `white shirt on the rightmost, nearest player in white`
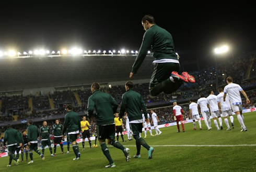
M 242 99 L 240 92 L 242 88 L 238 84 L 228 84 L 224 87 L 224 93 L 227 93 L 231 104 L 241 104 Z

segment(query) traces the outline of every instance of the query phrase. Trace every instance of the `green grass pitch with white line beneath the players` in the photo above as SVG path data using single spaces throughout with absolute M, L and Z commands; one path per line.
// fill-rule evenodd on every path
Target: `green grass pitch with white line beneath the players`
M 247 132 L 240 132 L 240 124 L 236 116 L 234 116 L 235 129 L 230 131 L 226 130 L 224 120 L 224 129 L 220 131 L 217 131 L 213 121 L 213 129 L 210 131 L 206 129 L 204 121 L 202 121 L 202 130 L 198 130 L 198 123 L 196 123 L 197 130 L 192 129 L 192 123 L 185 124 L 185 133 L 177 133 L 177 126 L 160 128 L 162 134 L 155 137 L 149 136 L 147 131 L 145 140 L 155 148 L 152 160 L 147 159 L 147 150 L 142 147 L 142 158 L 131 158 L 130 162 L 126 162 L 121 150 L 108 146 L 117 167 L 106 169 L 104 166 L 108 161 L 100 146 L 89 149 L 86 142 L 85 151 L 80 147 L 82 155 L 79 161 L 72 160 L 75 157 L 72 148 L 69 154 L 62 155 L 58 147 L 57 155 L 54 157 L 50 156 L 49 149 L 45 149 L 45 161 L 42 161 L 37 153 L 33 153 L 33 164 L 20 162 L 16 166 L 13 162 L 11 167 L 6 167 L 9 157 L 2 157 L 0 171 L 256 171 L 256 112 L 246 113 L 244 116 Z M 124 137 L 127 140 L 127 136 Z M 122 144 L 130 148 L 131 156 L 136 154 L 135 140 Z M 64 151 L 67 151 L 66 147 Z

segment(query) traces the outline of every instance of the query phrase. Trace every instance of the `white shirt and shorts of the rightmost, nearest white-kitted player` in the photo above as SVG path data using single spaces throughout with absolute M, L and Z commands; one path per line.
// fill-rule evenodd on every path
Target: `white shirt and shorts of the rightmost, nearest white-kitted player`
M 224 87 L 224 92 L 228 94 L 234 112 L 242 111 L 241 91 L 241 86 L 235 83 L 228 84 Z

